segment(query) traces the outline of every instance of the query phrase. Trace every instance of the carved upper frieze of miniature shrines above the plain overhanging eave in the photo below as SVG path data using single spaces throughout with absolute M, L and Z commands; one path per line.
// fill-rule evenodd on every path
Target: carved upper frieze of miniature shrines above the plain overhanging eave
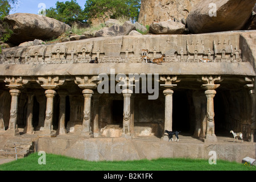
M 248 61 L 242 60 L 239 44 L 240 34 L 115 36 L 6 49 L 0 63 L 74 64 L 89 63 L 94 57 L 98 57 L 100 63 L 141 63 L 142 49 L 149 50 L 147 56 L 151 59 L 165 53 L 167 63 L 199 63 L 200 59 L 215 63 Z

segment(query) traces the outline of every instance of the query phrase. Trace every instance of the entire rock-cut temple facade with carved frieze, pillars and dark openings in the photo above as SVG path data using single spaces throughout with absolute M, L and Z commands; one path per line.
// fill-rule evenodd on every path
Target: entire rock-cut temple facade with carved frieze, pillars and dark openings
M 3 49 L 0 129 L 85 138 L 181 130 L 205 142 L 233 129 L 253 140 L 255 35 L 116 36 Z M 165 54 L 164 63 L 142 63 L 142 49 L 151 60 Z M 95 57 L 99 63 L 90 64 Z

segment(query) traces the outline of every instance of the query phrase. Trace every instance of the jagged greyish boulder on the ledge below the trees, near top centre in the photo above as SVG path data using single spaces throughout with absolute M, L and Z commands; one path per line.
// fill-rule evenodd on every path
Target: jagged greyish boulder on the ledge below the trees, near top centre
M 99 36 L 119 36 L 119 35 L 129 35 L 136 27 L 130 21 L 126 21 L 122 26 L 114 24 L 112 27 L 104 27 L 95 33 L 96 37 Z

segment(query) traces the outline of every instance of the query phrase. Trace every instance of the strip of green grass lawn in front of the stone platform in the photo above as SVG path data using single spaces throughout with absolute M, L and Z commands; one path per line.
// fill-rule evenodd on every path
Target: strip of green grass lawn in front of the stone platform
M 154 159 L 126 162 L 89 162 L 67 156 L 46 154 L 46 164 L 38 164 L 41 155 L 0 165 L 0 171 L 256 171 L 248 164 L 217 160 L 210 165 L 204 159 Z

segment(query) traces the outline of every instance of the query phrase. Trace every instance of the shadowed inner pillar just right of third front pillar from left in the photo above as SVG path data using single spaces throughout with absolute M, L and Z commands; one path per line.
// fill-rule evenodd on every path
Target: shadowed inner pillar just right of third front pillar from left
M 99 137 L 101 135 L 100 129 L 98 127 L 98 104 L 100 95 L 93 95 L 93 137 Z

